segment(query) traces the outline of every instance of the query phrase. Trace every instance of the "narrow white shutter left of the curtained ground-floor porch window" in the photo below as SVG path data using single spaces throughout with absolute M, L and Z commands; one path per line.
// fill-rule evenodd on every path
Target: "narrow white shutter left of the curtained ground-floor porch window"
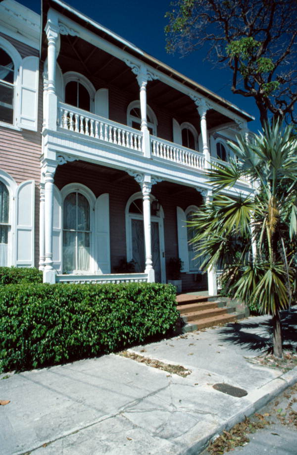
M 58 273 L 62 273 L 62 200 L 55 185 L 53 186 L 52 260 L 53 267 Z

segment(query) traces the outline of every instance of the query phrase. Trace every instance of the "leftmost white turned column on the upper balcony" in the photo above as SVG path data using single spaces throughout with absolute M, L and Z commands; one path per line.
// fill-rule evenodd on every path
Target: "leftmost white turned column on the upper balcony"
M 45 106 L 46 128 L 57 129 L 57 97 L 55 92 L 55 69 L 57 58 L 57 47 L 59 40 L 58 25 L 53 20 L 48 20 L 45 27 L 48 38 L 48 83 Z

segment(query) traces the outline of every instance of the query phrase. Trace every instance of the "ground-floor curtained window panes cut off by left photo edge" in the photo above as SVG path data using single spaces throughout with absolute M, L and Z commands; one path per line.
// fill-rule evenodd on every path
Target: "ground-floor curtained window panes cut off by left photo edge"
M 8 214 L 9 193 L 5 185 L 0 182 L 0 266 L 8 264 Z

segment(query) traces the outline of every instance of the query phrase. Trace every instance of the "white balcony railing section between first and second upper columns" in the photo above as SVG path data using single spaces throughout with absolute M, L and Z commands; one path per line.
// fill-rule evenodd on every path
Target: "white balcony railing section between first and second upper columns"
M 58 125 L 68 131 L 142 152 L 142 133 L 86 110 L 58 103 Z

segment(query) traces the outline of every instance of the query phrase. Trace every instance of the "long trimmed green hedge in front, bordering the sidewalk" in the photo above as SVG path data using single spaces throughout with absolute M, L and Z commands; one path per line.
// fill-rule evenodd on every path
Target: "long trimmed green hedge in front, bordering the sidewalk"
M 120 350 L 166 334 L 175 288 L 158 283 L 0 286 L 0 371 Z

